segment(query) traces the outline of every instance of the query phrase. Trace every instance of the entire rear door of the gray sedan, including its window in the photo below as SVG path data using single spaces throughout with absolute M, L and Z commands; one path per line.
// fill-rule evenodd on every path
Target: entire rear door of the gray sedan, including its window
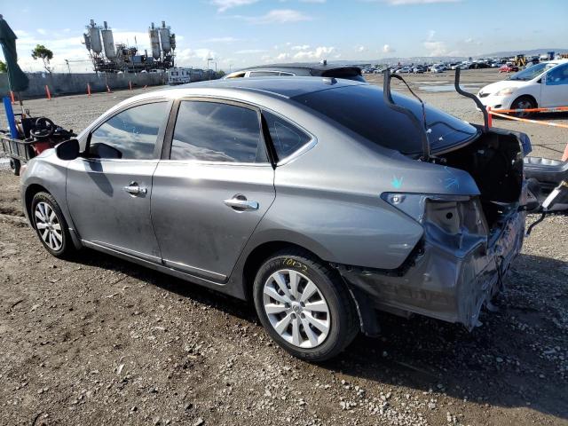
M 222 282 L 275 197 L 260 114 L 212 99 L 176 107 L 154 173 L 154 230 L 164 264 Z

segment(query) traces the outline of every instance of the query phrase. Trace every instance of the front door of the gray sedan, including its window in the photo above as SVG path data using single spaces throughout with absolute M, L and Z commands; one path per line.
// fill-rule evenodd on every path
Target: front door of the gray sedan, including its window
M 83 157 L 69 163 L 67 204 L 83 241 L 162 260 L 150 200 L 169 112 L 169 102 L 154 101 L 114 114 L 91 131 Z

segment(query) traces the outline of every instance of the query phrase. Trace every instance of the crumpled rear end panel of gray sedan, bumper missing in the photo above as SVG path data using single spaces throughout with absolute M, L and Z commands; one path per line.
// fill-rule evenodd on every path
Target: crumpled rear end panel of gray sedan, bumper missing
M 502 278 L 520 252 L 525 235 L 525 212 L 512 212 L 492 241 L 464 235 L 459 249 L 425 233 L 422 249 L 402 273 L 340 267 L 352 288 L 376 309 L 400 315 L 428 317 L 476 327 L 482 306 L 502 286 Z

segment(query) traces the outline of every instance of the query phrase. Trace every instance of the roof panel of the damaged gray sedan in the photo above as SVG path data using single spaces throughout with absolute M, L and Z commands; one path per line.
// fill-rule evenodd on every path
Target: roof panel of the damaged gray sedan
M 226 92 L 227 94 L 229 92 L 248 91 L 290 99 L 314 91 L 326 91 L 360 84 L 368 83 L 333 77 L 251 77 L 208 80 L 151 91 L 127 99 L 128 102 L 125 101 L 124 103 L 155 98 L 157 95 L 164 95 L 167 98 L 181 98 L 184 96 L 201 95 L 207 91 Z

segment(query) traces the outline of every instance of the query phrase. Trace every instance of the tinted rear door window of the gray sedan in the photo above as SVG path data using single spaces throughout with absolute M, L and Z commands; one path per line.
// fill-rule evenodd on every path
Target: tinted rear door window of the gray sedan
M 182 101 L 170 159 L 267 162 L 258 114 L 242 106 Z

